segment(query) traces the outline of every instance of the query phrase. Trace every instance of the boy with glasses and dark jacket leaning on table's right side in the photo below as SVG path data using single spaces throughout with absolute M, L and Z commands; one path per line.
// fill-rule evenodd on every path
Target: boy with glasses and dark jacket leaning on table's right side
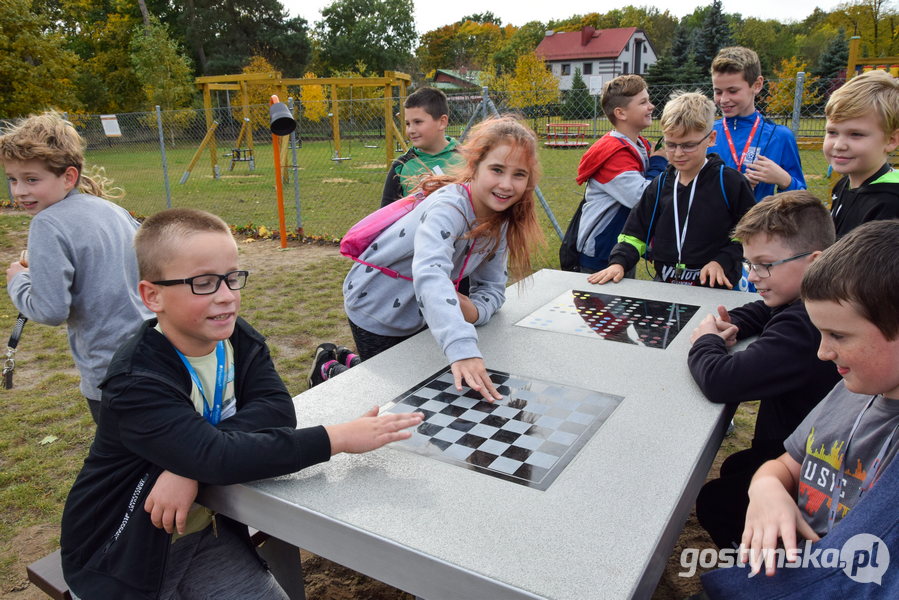
M 760 400 L 752 446 L 729 456 L 699 493 L 696 515 L 721 548 L 740 543 L 755 471 L 783 454 L 784 440 L 840 379 L 818 359 L 821 333 L 799 297 L 806 269 L 835 239 L 833 220 L 810 192 L 769 196 L 733 233 L 761 300 L 728 312 L 718 308 L 693 331 L 690 372 L 715 403 Z M 740 352 L 728 348 L 758 336 Z

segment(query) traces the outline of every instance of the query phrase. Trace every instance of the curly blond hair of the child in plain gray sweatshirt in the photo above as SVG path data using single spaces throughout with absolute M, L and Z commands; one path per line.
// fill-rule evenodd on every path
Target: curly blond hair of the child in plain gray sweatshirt
M 124 196 L 121 188 L 111 187 L 102 167 L 84 172 L 84 139 L 75 127 L 56 111 L 31 115 L 0 135 L 0 160 L 39 160 L 47 170 L 61 176 L 69 167 L 78 171 L 78 191 L 100 198 Z

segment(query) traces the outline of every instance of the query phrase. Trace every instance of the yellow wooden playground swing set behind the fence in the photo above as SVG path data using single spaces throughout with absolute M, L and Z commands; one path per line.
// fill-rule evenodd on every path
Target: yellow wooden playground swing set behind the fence
M 248 163 L 250 171 L 255 170 L 256 157 L 253 143 L 253 126 L 250 120 L 250 88 L 252 86 L 266 86 L 268 88 L 275 88 L 280 92 L 280 95 L 285 98 L 288 96 L 288 86 L 328 86 L 330 88 L 331 100 L 331 112 L 328 113 L 328 118 L 331 121 L 331 136 L 329 139 L 329 144 L 331 146 L 330 159 L 334 162 L 343 162 L 346 160 L 350 160 L 352 158 L 351 153 L 353 144 L 353 137 L 350 136 L 347 140 L 347 152 L 343 152 L 343 141 L 346 138 L 341 138 L 340 104 L 337 98 L 338 90 L 341 87 L 348 87 L 350 90 L 350 100 L 352 101 L 353 89 L 355 87 L 383 88 L 384 121 L 386 124 L 385 133 L 387 138 L 384 145 L 385 168 L 388 168 L 390 166 L 390 163 L 393 161 L 394 144 L 402 147 L 404 151 L 406 149 L 402 130 L 397 127 L 396 122 L 393 120 L 392 113 L 394 98 L 396 96 L 400 98 L 405 97 L 407 95 L 407 89 L 411 81 L 412 79 L 409 75 L 397 71 L 385 71 L 383 77 L 322 77 L 314 79 L 298 79 L 283 78 L 281 77 L 281 74 L 279 72 L 244 73 L 240 75 L 198 77 L 196 78 L 195 82 L 203 93 L 203 108 L 206 115 L 206 135 L 200 142 L 197 151 L 191 158 L 190 163 L 188 164 L 188 167 L 182 175 L 179 183 L 183 184 L 188 180 L 191 172 L 200 161 L 203 152 L 206 150 L 209 151 L 212 176 L 215 179 L 218 179 L 220 177 L 217 156 L 218 151 L 216 148 L 215 139 L 215 132 L 219 126 L 219 123 L 213 118 L 212 106 L 212 93 L 215 91 L 239 92 L 240 94 L 240 108 L 242 111 L 243 122 L 241 124 L 240 132 L 237 135 L 237 139 L 235 140 L 235 143 L 230 152 L 226 152 L 223 155 L 227 158 L 230 158 L 230 165 L 228 170 L 232 171 L 234 169 L 235 163 L 240 162 Z M 396 94 L 394 93 L 394 88 L 398 88 Z M 403 112 L 404 111 L 401 106 L 400 123 L 404 122 Z M 356 117 L 354 113 L 351 113 L 350 116 L 350 126 L 351 128 L 355 128 L 356 126 Z M 377 145 L 365 144 L 364 136 L 359 131 L 357 131 L 356 137 L 359 138 L 359 141 L 362 142 L 366 148 L 378 147 Z M 286 158 L 287 149 L 288 145 L 284 144 L 282 146 L 281 153 L 282 163 Z M 287 171 L 285 170 L 285 176 L 286 173 Z

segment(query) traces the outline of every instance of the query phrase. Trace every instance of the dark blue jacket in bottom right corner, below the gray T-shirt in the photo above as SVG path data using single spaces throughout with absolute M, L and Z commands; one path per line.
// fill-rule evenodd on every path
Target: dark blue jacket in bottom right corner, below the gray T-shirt
M 855 508 L 820 542 L 811 545 L 815 554 L 809 558 L 817 560 L 820 566 L 811 566 L 809 560 L 808 566 L 778 568 L 773 577 L 760 573 L 752 578 L 747 578 L 748 566 L 718 569 L 702 576 L 706 594 L 727 600 L 899 597 L 899 569 L 889 564 L 899 557 L 897 496 L 899 461 L 894 460 Z M 856 537 L 860 534 L 866 535 Z M 870 536 L 880 538 L 883 545 Z M 800 548 L 804 555 L 805 545 Z M 822 555 L 828 553 L 839 555 L 845 566 L 821 565 Z M 853 570 L 855 579 L 851 578 Z M 877 574 L 882 575 L 879 584 L 873 582 L 872 576 Z

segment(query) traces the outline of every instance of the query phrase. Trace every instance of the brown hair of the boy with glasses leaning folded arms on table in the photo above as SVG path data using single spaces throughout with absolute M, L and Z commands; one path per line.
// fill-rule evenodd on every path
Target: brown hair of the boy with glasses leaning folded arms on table
M 797 253 L 824 250 L 836 240 L 830 211 L 808 190 L 768 196 L 743 215 L 732 234 L 743 242 L 758 235 L 776 237 Z

